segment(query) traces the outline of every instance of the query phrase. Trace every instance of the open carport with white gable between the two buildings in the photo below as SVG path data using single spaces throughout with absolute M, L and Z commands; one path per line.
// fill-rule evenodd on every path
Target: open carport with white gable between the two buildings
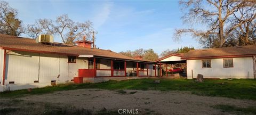
M 174 72 L 173 66 L 174 64 L 177 64 L 177 63 L 180 63 L 181 66 L 182 65 L 185 66 L 185 67 L 181 67 L 182 69 L 186 68 L 187 61 L 181 59 L 181 57 L 184 54 L 185 53 L 174 53 L 156 60 L 156 62 L 160 67 L 159 76 L 163 77 L 163 72 L 165 72 L 166 77 L 173 76 L 173 72 Z M 187 76 L 187 71 L 186 70 L 183 70 L 183 71 L 184 72 L 182 73 L 182 76 Z M 168 72 L 171 72 L 171 74 L 169 74 Z

